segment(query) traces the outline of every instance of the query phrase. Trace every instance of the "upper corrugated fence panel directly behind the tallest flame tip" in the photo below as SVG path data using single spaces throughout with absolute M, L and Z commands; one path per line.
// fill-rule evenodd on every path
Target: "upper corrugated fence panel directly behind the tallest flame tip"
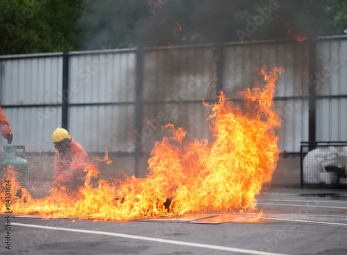
M 238 91 L 257 85 L 259 70 L 273 64 L 285 73 L 276 82 L 275 96 L 307 94 L 308 46 L 293 42 L 278 44 L 230 45 L 225 48 L 223 88 L 226 95 L 237 96 Z

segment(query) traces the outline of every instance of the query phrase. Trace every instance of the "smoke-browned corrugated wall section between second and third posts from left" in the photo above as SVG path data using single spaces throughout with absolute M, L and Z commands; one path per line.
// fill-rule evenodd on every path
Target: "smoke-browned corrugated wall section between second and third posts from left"
M 215 100 L 213 49 L 195 47 L 148 51 L 144 55 L 143 151 L 162 139 L 160 125 L 173 123 L 187 139 L 210 138 L 203 98 Z M 153 122 L 154 125 L 148 123 Z

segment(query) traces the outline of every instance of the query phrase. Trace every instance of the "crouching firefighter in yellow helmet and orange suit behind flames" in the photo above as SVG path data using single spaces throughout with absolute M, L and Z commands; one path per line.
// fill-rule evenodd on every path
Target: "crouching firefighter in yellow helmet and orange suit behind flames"
M 65 186 L 68 190 L 77 190 L 83 186 L 86 173 L 85 167 L 92 162 L 87 159 L 87 152 L 74 142 L 64 128 L 57 128 L 52 135 L 56 150 L 56 175 L 53 186 Z

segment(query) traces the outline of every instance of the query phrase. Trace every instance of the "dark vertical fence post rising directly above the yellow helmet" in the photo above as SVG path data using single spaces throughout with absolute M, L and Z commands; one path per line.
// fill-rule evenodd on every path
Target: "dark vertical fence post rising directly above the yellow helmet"
M 62 128 L 67 130 L 69 115 L 69 53 L 62 53 Z

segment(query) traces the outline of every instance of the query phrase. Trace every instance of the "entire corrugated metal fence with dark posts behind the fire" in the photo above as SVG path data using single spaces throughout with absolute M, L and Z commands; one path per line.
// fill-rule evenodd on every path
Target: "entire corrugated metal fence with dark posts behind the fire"
M 13 142 L 28 152 L 53 151 L 51 134 L 62 126 L 87 152 L 128 155 L 138 165 L 162 138 L 158 125 L 210 138 L 203 98 L 212 103 L 223 89 L 237 100 L 257 85 L 262 66 L 275 64 L 285 69 L 274 98 L 279 148 L 299 155 L 312 122 L 316 140 L 347 140 L 347 37 L 318 39 L 315 55 L 314 73 L 310 44 L 294 40 L 0 56 L 0 102 Z

